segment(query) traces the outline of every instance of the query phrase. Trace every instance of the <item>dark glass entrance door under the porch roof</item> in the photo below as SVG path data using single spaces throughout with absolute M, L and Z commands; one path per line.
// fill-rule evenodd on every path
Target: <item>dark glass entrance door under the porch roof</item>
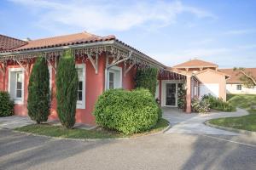
M 177 84 L 176 83 L 166 83 L 166 105 L 176 106 L 177 98 Z

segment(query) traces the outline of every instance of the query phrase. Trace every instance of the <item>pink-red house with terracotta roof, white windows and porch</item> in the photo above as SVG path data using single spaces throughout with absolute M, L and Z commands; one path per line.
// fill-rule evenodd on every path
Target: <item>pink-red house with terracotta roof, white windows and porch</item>
M 35 59 L 43 54 L 49 64 L 49 87 L 52 92 L 49 119 L 58 118 L 55 99 L 56 65 L 67 48 L 73 49 L 81 84 L 78 89 L 76 122 L 94 124 L 92 111 L 97 97 L 109 88 L 134 88 L 137 68 L 158 68 L 156 98 L 160 99 L 162 106 L 177 107 L 177 87 L 181 84 L 186 87 L 187 112 L 191 111 L 191 98 L 200 96 L 200 88 L 217 90 L 216 86 L 210 84 L 218 83 L 218 97 L 225 99 L 223 87 L 226 76 L 218 71 L 216 65 L 179 65 L 168 68 L 114 36 L 100 37 L 85 31 L 26 41 L 0 35 L 0 90 L 8 91 L 14 99 L 15 115 L 27 116 L 29 76 Z

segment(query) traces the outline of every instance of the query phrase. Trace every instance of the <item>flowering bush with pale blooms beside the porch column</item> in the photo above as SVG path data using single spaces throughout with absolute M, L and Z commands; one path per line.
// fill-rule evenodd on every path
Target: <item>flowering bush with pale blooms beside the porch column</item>
M 210 104 L 204 99 L 193 98 L 191 100 L 192 111 L 207 113 L 210 111 Z

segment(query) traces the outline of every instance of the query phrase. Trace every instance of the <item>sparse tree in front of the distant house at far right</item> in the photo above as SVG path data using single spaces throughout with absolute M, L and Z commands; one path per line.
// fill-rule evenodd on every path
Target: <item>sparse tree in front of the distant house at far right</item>
M 245 88 L 254 88 L 256 86 L 256 78 L 253 77 L 253 74 L 251 72 L 247 72 L 245 68 L 234 68 L 234 71 L 238 71 L 236 75 L 240 75 L 241 77 L 239 78 L 241 82 L 243 82 L 243 86 Z

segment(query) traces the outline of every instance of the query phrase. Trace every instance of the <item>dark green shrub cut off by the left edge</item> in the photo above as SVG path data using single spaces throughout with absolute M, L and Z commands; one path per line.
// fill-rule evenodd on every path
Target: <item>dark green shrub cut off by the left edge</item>
M 12 116 L 14 114 L 14 101 L 7 92 L 0 92 L 0 116 Z

